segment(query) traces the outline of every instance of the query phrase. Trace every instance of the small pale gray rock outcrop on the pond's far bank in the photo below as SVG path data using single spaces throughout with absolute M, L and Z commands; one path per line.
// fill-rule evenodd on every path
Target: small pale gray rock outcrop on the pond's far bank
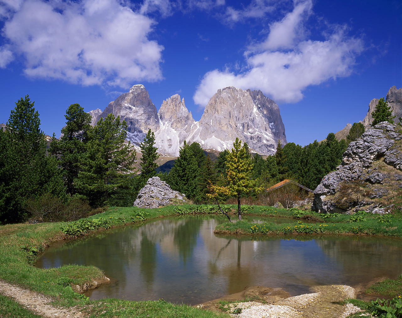
M 157 208 L 160 206 L 186 203 L 185 195 L 170 189 L 169 185 L 161 181 L 159 177 L 149 178 L 145 187 L 139 191 L 133 206 L 146 209 Z

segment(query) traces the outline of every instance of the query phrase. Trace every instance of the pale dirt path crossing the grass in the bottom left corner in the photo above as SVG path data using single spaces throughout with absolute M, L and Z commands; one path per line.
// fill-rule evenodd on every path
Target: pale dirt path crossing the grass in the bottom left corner
M 0 293 L 4 296 L 12 297 L 24 308 L 41 315 L 45 318 L 85 318 L 86 314 L 76 308 L 56 308 L 50 305 L 52 298 L 36 293 L 27 289 L 22 289 L 16 285 L 6 283 L 0 279 Z

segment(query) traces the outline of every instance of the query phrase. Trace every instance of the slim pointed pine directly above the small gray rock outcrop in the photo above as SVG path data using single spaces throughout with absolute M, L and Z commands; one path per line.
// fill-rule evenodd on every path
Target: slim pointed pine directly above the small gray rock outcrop
M 155 162 L 158 160 L 159 155 L 156 152 L 158 148 L 154 147 L 155 134 L 151 129 L 148 130 L 144 142 L 141 143 L 140 148 L 142 152 L 141 158 L 141 176 L 147 181 L 156 175 L 155 169 L 158 168 L 158 164 Z

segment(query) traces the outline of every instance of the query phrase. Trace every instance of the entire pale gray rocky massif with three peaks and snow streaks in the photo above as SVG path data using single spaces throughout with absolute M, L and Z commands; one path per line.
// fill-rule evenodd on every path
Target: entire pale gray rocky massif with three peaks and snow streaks
M 184 140 L 198 142 L 203 149 L 231 149 L 236 137 L 260 154 L 274 154 L 278 140 L 286 144 L 285 126 L 278 105 L 260 90 L 241 90 L 233 86 L 219 89 L 211 97 L 200 121 L 195 121 L 184 98 L 173 95 L 163 101 L 159 112 L 143 85 L 109 103 L 104 111 L 89 112 L 92 125 L 101 117 L 120 115 L 128 125 L 127 139 L 142 142 L 148 129 L 155 132 L 158 152 L 178 156 Z

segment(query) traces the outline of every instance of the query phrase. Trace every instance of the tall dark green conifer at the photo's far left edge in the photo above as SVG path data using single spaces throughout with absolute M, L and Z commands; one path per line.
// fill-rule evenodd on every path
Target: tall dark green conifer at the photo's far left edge
M 27 199 L 43 193 L 63 197 L 61 171 L 54 158 L 46 156 L 39 113 L 29 96 L 21 98 L 11 111 L 6 131 L 0 133 L 0 222 L 21 222 Z

